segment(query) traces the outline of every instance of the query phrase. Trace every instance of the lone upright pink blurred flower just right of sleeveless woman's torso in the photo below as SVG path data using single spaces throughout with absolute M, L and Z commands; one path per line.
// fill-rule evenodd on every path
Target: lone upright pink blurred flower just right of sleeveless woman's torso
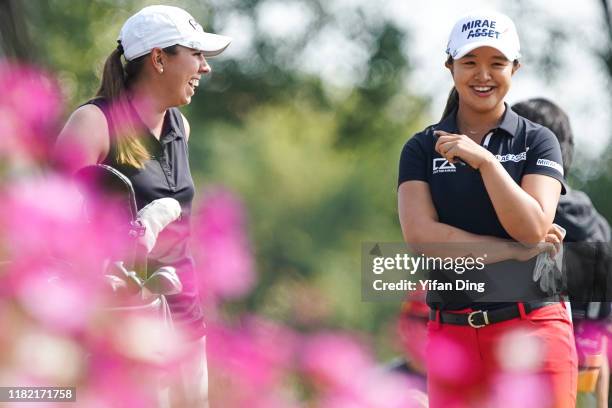
M 202 271 L 202 293 L 215 299 L 247 294 L 256 276 L 239 200 L 225 190 L 211 192 L 194 225 L 193 248 Z

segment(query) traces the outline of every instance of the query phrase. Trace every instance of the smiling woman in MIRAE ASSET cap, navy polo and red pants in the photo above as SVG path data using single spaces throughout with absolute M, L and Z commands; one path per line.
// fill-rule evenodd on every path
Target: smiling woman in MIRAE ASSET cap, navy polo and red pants
M 402 150 L 405 241 L 427 256 L 452 250 L 455 259 L 484 264 L 430 271 L 432 281 L 455 288 L 434 285 L 427 295 L 430 407 L 575 405 L 571 322 L 554 279 L 534 275 L 539 253 L 556 253 L 563 239 L 553 224 L 563 163 L 552 132 L 504 102 L 519 51 L 505 15 L 474 12 L 457 21 L 445 64 L 454 88 L 442 120 Z M 484 293 L 466 280 L 482 282 Z

